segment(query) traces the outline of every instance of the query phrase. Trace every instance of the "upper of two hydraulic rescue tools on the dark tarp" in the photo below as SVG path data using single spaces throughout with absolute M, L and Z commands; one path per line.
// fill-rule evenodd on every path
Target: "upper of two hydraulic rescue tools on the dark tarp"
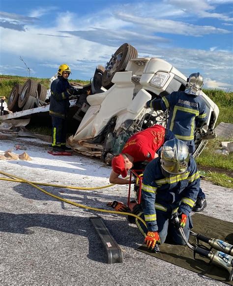
M 212 248 L 214 248 L 216 250 L 220 250 L 226 254 L 233 256 L 233 245 L 231 245 L 231 244 L 229 244 L 223 240 L 206 237 L 206 236 L 202 235 L 201 233 L 195 233 L 191 230 L 190 230 L 190 235 L 193 235 L 197 238 L 198 244 L 199 244 L 199 240 L 208 243 L 211 246 L 210 250 Z

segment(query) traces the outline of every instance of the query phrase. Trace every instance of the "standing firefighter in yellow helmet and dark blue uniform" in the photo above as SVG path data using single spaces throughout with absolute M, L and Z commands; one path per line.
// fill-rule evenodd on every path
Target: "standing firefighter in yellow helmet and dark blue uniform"
M 69 97 L 78 95 L 79 92 L 70 86 L 68 77 L 71 70 L 67 64 L 58 68 L 58 78 L 51 84 L 51 97 L 49 114 L 52 117 L 52 147 L 53 151 L 70 150 L 66 146 L 66 125 L 69 111 Z

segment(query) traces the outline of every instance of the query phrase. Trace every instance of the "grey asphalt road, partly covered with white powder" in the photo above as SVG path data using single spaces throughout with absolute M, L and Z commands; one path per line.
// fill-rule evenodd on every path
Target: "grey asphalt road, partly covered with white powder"
M 0 150 L 13 143 L 1 141 Z M 110 168 L 97 160 L 79 155 L 52 158 L 45 146 L 29 146 L 26 152 L 32 161 L 0 161 L 0 171 L 52 184 L 109 183 Z M 201 185 L 208 203 L 203 214 L 233 222 L 233 190 L 203 180 Z M 42 188 L 106 209 L 106 202 L 126 201 L 127 196 L 125 186 L 94 191 Z M 123 254 L 123 263 L 107 264 L 105 249 L 89 221 L 96 215 L 27 184 L 0 180 L 0 285 L 224 285 L 137 251 L 143 237 L 135 225 L 123 216 L 98 213 Z

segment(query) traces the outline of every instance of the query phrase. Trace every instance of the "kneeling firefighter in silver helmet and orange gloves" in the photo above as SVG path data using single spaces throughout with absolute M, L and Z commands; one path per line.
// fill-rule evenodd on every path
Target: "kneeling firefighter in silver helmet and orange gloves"
M 142 184 L 141 210 L 139 205 L 133 213 L 146 221 L 146 227 L 136 219 L 136 224 L 145 236 L 149 249 L 164 243 L 166 238 L 176 244 L 185 242 L 173 224 L 177 213 L 180 227 L 186 238 L 192 228 L 190 212 L 197 199 L 200 176 L 197 165 L 189 156 L 187 145 L 175 138 L 164 143 L 161 158 L 151 161 L 145 169 Z

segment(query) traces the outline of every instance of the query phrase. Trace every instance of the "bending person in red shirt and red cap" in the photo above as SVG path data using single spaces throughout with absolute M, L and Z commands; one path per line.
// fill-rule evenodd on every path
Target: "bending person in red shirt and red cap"
M 165 130 L 161 125 L 153 125 L 141 132 L 134 134 L 125 143 L 121 153 L 112 160 L 112 172 L 109 181 L 112 184 L 129 184 L 128 170 L 133 166 L 135 170 L 142 169 L 141 163 L 151 161 L 158 157 L 157 151 L 164 142 L 175 138 L 174 134 Z M 136 164 L 135 164 L 136 163 Z M 144 166 L 145 167 L 145 166 Z M 123 178 L 119 178 L 121 175 Z

